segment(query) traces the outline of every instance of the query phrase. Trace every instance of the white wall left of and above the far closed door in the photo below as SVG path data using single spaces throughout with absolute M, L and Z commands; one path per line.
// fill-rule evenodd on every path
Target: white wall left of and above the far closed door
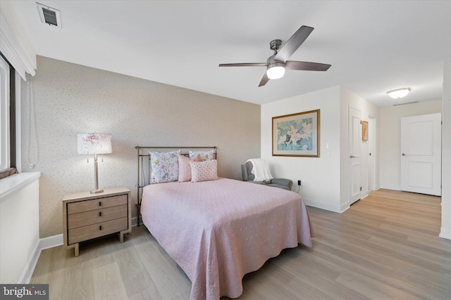
M 401 118 L 442 112 L 442 100 L 381 107 L 379 112 L 381 188 L 400 190 Z

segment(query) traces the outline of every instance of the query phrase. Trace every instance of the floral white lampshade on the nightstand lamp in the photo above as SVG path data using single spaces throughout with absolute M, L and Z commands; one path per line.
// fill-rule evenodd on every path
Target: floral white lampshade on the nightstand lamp
M 111 134 L 77 133 L 79 155 L 110 154 Z

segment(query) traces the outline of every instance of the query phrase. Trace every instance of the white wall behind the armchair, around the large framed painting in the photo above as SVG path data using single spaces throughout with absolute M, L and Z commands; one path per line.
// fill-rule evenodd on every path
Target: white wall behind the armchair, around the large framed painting
M 272 156 L 272 117 L 320 110 L 320 157 Z M 340 87 L 307 93 L 261 105 L 261 158 L 273 177 L 290 178 L 293 190 L 302 180 L 300 194 L 314 207 L 340 211 Z M 326 143 L 332 146 L 326 156 Z M 325 188 L 327 187 L 327 188 Z

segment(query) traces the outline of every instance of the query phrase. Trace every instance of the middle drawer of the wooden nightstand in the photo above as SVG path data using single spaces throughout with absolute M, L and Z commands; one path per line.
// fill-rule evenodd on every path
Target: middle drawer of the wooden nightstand
M 68 215 L 68 229 L 102 223 L 128 216 L 127 204 Z

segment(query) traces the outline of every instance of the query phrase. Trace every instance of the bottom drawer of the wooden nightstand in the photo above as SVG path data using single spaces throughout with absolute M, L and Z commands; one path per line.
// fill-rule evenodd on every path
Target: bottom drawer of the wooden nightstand
M 128 229 L 128 218 L 106 221 L 89 226 L 68 230 L 68 244 L 74 244 L 85 240 L 91 240 L 95 237 L 118 233 Z

